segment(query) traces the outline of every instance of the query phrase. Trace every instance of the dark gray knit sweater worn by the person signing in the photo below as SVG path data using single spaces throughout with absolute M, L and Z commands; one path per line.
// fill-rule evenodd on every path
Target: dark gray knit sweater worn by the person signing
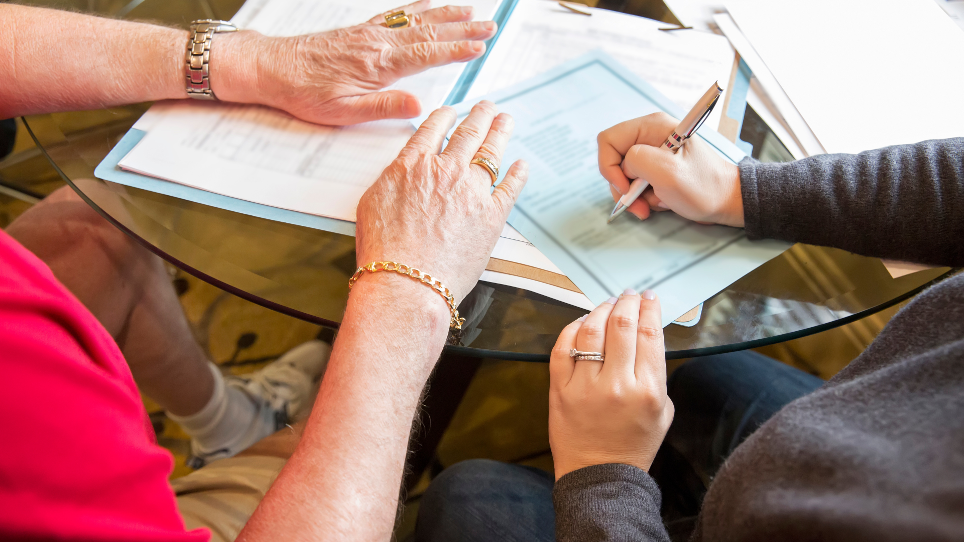
M 751 238 L 964 266 L 964 138 L 739 172 Z M 567 474 L 553 501 L 557 540 L 668 540 L 634 467 Z M 736 447 L 693 539 L 964 540 L 964 274 Z

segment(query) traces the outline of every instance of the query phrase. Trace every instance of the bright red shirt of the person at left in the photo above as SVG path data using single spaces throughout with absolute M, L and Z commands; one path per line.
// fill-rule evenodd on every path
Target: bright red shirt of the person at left
M 202 541 L 186 531 L 114 339 L 0 230 L 0 539 Z

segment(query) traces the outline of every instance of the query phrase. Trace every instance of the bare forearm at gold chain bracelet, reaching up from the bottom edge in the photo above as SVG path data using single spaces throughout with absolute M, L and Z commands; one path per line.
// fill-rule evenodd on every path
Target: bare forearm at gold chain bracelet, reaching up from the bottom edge
M 355 285 L 305 434 L 238 540 L 388 540 L 442 297 L 393 273 Z

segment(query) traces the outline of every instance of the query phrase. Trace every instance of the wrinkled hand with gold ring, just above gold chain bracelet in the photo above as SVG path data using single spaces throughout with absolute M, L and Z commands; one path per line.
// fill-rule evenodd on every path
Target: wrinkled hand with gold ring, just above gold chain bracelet
M 356 251 L 359 265 L 396 261 L 428 273 L 458 302 L 482 275 L 528 166 L 517 161 L 492 190 L 489 171 L 471 161 L 501 162 L 512 117 L 496 115 L 490 101 L 479 102 L 442 150 L 455 120 L 450 107 L 433 112 L 364 193 Z

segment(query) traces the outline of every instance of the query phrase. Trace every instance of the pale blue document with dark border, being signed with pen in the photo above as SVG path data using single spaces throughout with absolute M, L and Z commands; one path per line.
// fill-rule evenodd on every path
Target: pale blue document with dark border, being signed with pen
M 790 246 L 751 242 L 743 230 L 672 212 L 606 224 L 612 197 L 599 174 L 596 134 L 630 115 L 682 111 L 602 52 L 487 97 L 516 120 L 503 163 L 524 158 L 530 167 L 509 223 L 595 304 L 627 287 L 654 288 L 665 326 Z M 460 116 L 469 108 L 457 107 Z M 699 133 L 732 161 L 745 155 L 716 132 Z

